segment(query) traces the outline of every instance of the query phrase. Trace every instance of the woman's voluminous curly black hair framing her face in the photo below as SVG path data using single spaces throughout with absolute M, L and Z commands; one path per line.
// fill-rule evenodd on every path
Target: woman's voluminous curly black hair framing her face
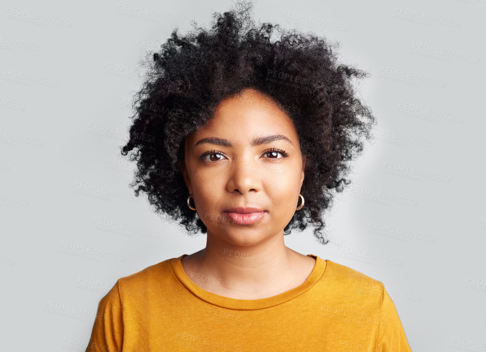
M 197 27 L 170 38 L 145 61 L 146 76 L 134 96 L 129 140 L 121 154 L 137 161 L 130 187 L 146 192 L 154 211 L 179 221 L 196 234 L 206 225 L 189 209 L 181 167 L 185 138 L 214 117 L 216 107 L 244 89 L 256 89 L 292 119 L 300 150 L 307 157 L 301 194 L 305 205 L 284 228 L 300 231 L 308 223 L 320 243 L 324 211 L 335 192 L 351 181 L 349 161 L 372 138 L 376 122 L 357 98 L 353 78 L 369 75 L 338 63 L 336 48 L 326 38 L 252 20 L 252 2 L 240 1 L 230 11 L 213 14 L 211 28 Z M 279 39 L 272 34 L 278 32 Z M 135 149 L 135 151 L 133 151 Z M 135 187 L 137 188 L 135 189 Z

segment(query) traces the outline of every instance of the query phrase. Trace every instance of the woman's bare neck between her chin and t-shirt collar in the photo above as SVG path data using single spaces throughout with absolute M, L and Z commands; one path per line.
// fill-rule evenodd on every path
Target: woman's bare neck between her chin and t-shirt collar
M 206 248 L 186 256 L 182 262 L 191 280 L 208 291 L 217 292 L 221 285 L 233 289 L 220 295 L 258 299 L 302 284 L 312 269 L 312 260 L 285 246 L 283 230 L 251 245 L 230 243 L 208 230 Z M 302 270 L 306 271 L 304 276 Z M 207 288 L 209 282 L 205 281 L 209 277 L 215 290 Z

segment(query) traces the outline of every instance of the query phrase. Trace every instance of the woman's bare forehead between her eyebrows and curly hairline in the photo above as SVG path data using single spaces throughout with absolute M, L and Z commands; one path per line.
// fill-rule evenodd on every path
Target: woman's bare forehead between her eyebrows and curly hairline
M 244 90 L 239 96 L 223 101 L 208 124 L 191 134 L 189 143 L 199 138 L 214 136 L 234 143 L 247 143 L 255 136 L 283 134 L 294 145 L 297 132 L 290 117 L 278 105 L 254 90 Z

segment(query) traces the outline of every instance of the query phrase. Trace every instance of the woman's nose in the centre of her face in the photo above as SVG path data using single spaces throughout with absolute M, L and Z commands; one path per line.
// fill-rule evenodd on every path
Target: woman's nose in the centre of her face
M 258 168 L 243 160 L 236 160 L 231 164 L 226 184 L 228 192 L 246 195 L 261 190 L 261 175 Z

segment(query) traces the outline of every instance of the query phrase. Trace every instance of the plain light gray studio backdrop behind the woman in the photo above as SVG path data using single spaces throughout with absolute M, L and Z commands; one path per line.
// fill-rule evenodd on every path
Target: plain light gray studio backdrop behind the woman
M 2 351 L 84 351 L 117 279 L 205 246 L 134 196 L 119 147 L 140 57 L 232 2 L 123 1 L 2 1 Z M 255 3 L 256 20 L 338 40 L 371 72 L 357 88 L 375 140 L 326 218 L 329 244 L 311 228 L 285 241 L 382 281 L 414 352 L 486 348 L 485 13 L 485 0 Z

